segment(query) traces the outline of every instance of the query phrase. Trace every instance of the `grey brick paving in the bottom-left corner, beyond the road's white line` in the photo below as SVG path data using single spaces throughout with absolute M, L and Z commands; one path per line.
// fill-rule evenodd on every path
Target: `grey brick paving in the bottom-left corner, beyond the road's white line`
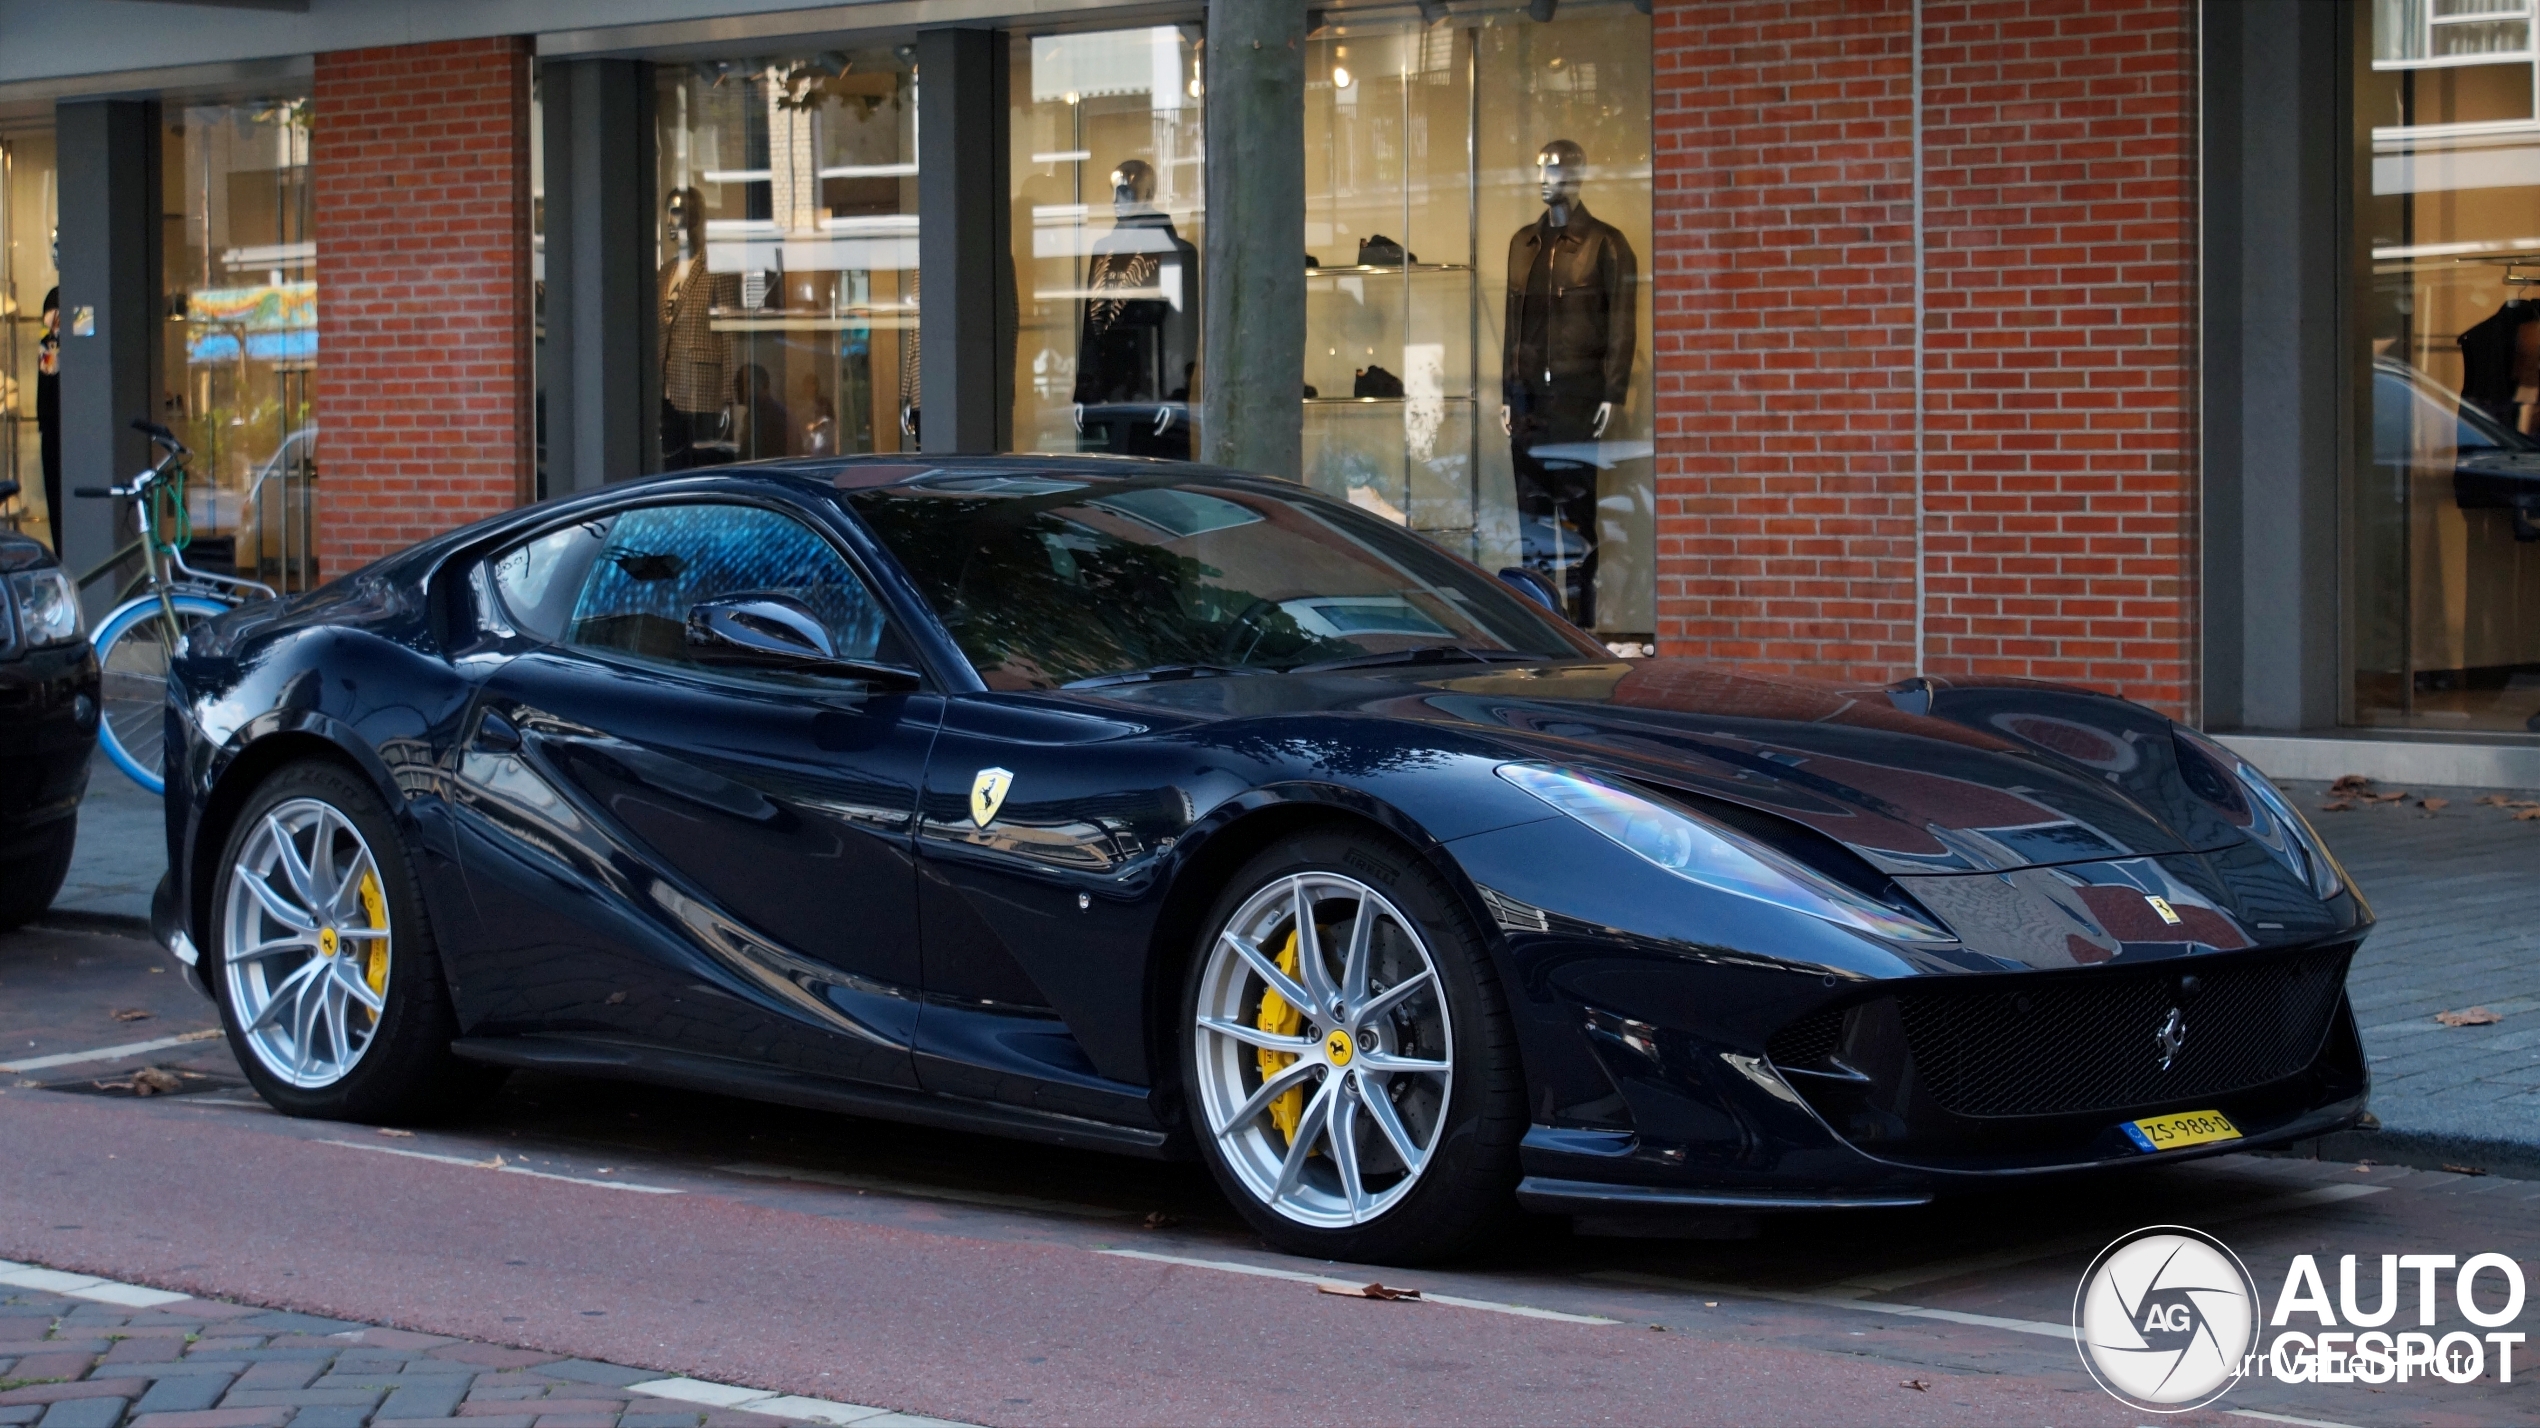
M 0 1425 L 947 1428 L 884 1408 L 780 1400 L 650 1370 L 244 1303 L 130 1286 L 89 1293 L 165 1303 L 137 1309 L 0 1286 Z M 724 1408 L 737 1400 L 785 1415 Z

